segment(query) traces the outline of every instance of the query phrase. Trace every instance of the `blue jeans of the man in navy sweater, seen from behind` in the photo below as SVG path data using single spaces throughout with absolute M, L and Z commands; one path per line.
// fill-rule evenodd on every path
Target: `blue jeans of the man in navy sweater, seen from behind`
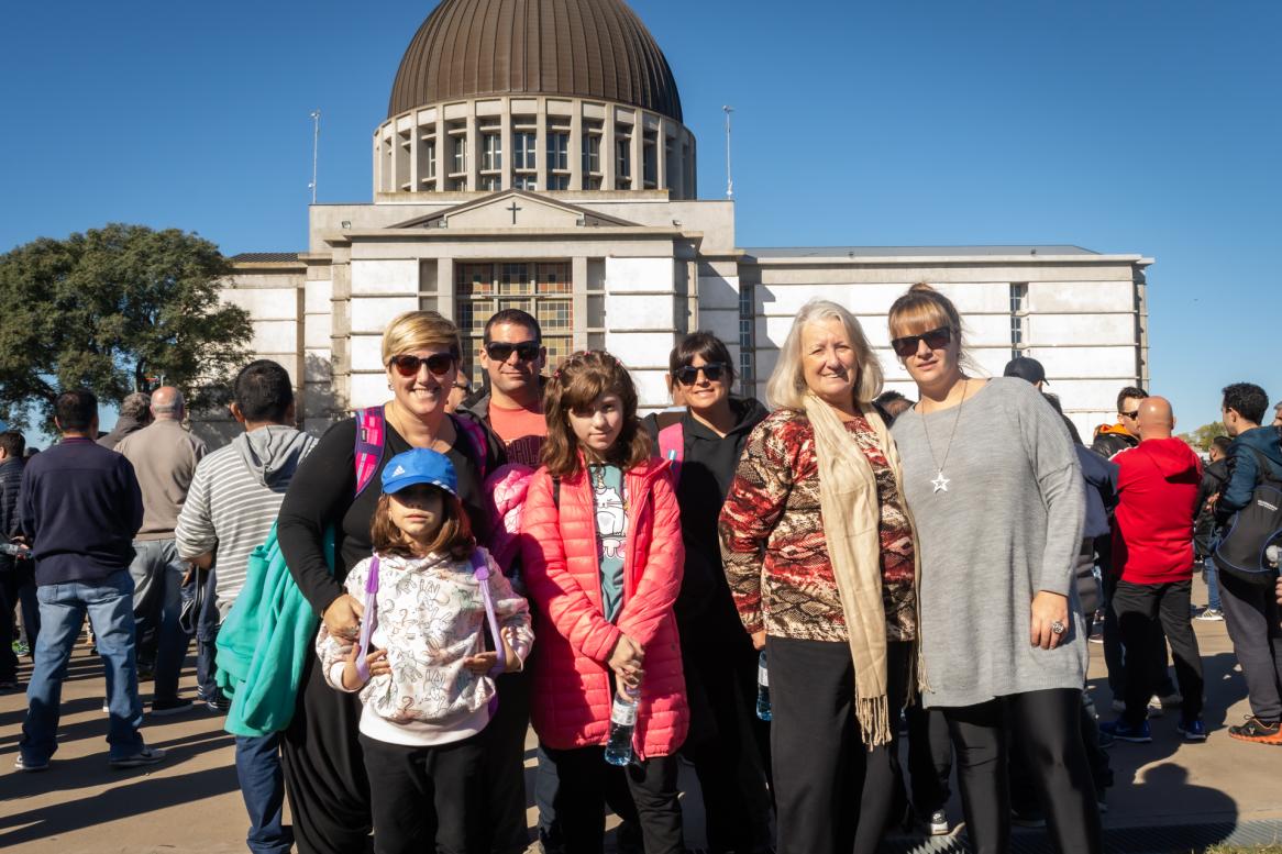
M 142 701 L 138 700 L 138 672 L 133 659 L 133 580 L 128 571 L 121 568 L 95 582 L 42 585 L 36 595 L 41 624 L 36 664 L 27 686 L 22 758 L 38 764 L 58 750 L 63 680 L 86 613 L 106 672 L 110 709 L 106 741 L 112 745 L 112 759 L 124 759 L 142 750 L 138 735 Z

